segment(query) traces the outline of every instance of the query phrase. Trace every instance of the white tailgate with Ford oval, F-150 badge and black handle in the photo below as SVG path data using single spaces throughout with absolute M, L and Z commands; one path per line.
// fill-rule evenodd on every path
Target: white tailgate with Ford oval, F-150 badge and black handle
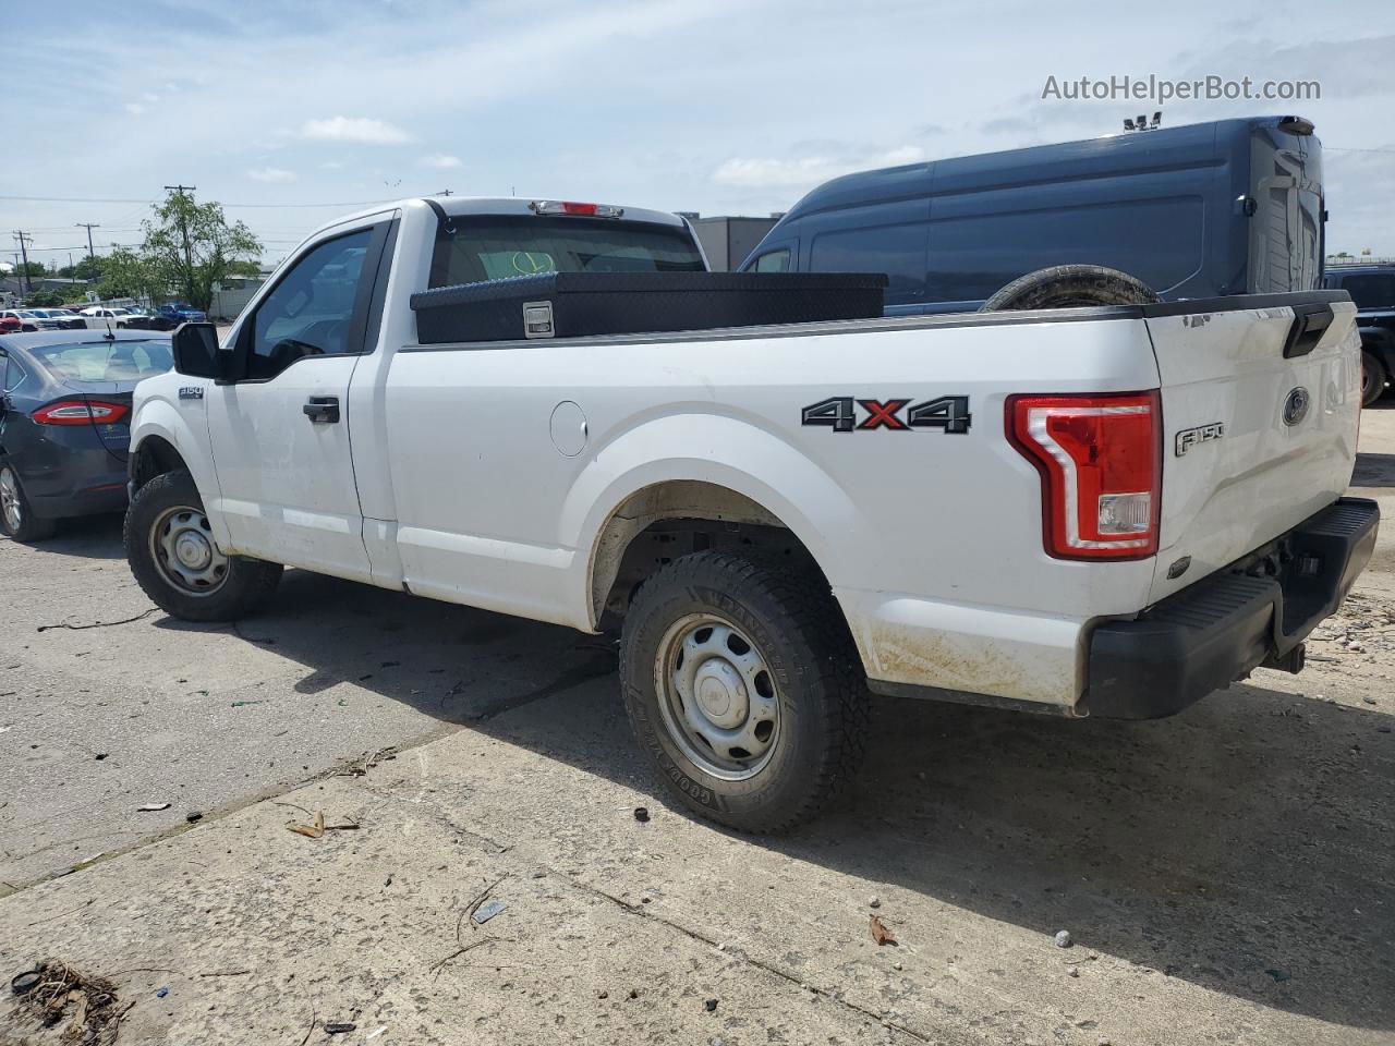
M 1345 291 L 1322 290 L 1144 307 L 1163 421 L 1149 602 L 1346 490 L 1360 420 L 1355 317 Z

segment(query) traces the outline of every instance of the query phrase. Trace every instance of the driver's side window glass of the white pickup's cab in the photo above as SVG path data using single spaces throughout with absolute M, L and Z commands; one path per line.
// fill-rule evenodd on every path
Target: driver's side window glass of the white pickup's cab
M 247 378 L 275 378 L 306 356 L 361 351 L 350 344 L 350 328 L 371 237 L 363 229 L 326 240 L 286 271 L 250 324 Z

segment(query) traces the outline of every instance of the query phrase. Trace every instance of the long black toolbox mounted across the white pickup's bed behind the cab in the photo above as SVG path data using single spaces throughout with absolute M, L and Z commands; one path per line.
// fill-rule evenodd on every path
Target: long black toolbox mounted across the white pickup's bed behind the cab
M 869 319 L 887 278 L 864 272 L 548 272 L 412 296 L 421 344 Z

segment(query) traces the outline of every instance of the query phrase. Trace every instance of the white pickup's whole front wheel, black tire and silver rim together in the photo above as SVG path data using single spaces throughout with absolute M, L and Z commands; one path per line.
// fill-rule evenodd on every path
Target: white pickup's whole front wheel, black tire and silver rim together
M 280 563 L 225 555 L 183 469 L 156 476 L 126 512 L 126 558 L 156 607 L 184 621 L 236 621 L 264 604 Z

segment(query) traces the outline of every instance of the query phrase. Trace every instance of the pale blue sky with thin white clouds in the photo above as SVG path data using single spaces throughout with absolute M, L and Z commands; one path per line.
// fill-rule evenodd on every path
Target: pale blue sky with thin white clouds
M 361 201 L 460 194 L 787 209 L 848 170 L 1115 132 L 1043 100 L 1110 75 L 1315 79 L 1306 102 L 1170 102 L 1165 124 L 1297 112 L 1332 250 L 1395 255 L 1389 0 L 60 0 L 7 7 L 0 229 L 66 264 L 140 240 L 166 184 L 282 257 Z M 38 199 L 45 197 L 47 199 Z

